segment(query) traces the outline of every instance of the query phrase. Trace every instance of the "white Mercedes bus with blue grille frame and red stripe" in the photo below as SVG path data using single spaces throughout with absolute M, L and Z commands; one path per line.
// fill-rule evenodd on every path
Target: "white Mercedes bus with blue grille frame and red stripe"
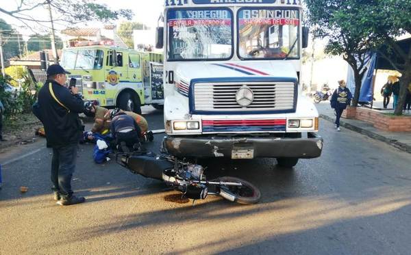
M 319 113 L 301 93 L 299 0 L 166 0 L 164 149 L 177 157 L 320 157 Z

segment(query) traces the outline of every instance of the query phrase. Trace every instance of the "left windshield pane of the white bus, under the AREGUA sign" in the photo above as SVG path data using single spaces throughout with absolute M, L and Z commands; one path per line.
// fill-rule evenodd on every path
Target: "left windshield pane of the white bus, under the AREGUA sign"
M 228 9 L 169 10 L 167 27 L 171 61 L 232 57 L 232 12 Z

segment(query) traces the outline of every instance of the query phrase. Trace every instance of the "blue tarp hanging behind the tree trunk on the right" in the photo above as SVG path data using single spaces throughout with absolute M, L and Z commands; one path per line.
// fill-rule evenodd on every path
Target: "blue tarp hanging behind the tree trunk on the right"
M 375 63 L 377 59 L 377 53 L 369 53 L 365 57 L 364 68 L 367 68 L 364 77 L 362 77 L 362 85 L 360 90 L 360 102 L 371 103 L 373 101 L 373 73 L 375 70 Z M 358 62 L 358 65 L 360 63 Z M 347 74 L 347 88 L 351 91 L 351 94 L 354 94 L 356 91 L 356 82 L 354 81 L 354 72 L 351 66 L 348 68 Z

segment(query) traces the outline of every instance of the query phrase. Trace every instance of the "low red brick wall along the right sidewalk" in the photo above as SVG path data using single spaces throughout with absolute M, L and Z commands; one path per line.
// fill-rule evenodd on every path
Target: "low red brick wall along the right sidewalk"
M 376 129 L 391 132 L 411 132 L 410 116 L 389 116 L 374 109 L 362 107 L 347 107 L 343 113 L 343 118 L 351 118 L 369 122 Z

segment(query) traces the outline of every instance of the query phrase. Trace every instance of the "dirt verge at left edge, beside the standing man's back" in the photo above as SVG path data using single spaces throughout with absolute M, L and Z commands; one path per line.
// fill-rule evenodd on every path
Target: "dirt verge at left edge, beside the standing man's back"
M 36 136 L 36 130 L 42 126 L 41 122 L 32 113 L 20 114 L 9 120 L 3 120 L 3 138 L 0 142 L 0 153 L 10 146 L 31 144 L 43 137 Z

